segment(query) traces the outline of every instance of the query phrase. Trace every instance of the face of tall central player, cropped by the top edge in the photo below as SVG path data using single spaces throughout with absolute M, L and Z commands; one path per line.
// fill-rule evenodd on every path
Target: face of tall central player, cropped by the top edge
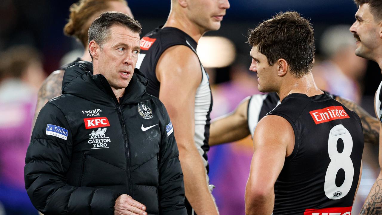
M 189 0 L 189 18 L 205 31 L 220 28 L 225 11 L 230 8 L 228 0 Z

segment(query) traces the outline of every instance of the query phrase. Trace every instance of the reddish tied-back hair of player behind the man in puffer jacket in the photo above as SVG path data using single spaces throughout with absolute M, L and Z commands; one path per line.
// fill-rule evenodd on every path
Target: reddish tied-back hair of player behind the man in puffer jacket
M 102 11 L 110 7 L 110 1 L 118 1 L 126 4 L 126 0 L 79 0 L 70 6 L 69 20 L 64 27 L 64 33 L 67 36 L 74 36 L 84 47 L 87 46 L 87 29 L 92 23 L 89 20 L 95 15 L 100 14 Z M 94 17 L 95 18 L 95 17 Z

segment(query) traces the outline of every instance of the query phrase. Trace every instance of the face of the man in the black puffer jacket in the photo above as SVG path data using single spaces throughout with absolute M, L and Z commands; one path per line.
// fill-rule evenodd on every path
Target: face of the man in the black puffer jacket
M 134 74 L 139 53 L 139 34 L 113 25 L 110 36 L 97 51 L 97 68 L 94 74 L 105 76 L 113 89 L 126 88 Z

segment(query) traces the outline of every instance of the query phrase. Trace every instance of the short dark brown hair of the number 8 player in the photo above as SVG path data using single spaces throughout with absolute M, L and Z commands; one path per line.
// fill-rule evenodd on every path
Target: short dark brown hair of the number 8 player
M 285 59 L 295 77 L 302 77 L 312 69 L 314 37 L 311 24 L 295 11 L 279 13 L 249 31 L 248 43 L 257 46 L 271 66 Z

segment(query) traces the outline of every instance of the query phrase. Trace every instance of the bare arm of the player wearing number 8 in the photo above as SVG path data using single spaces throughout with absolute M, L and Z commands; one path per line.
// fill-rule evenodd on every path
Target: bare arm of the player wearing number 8
M 274 129 L 274 125 L 278 129 Z M 245 192 L 246 215 L 272 214 L 274 185 L 284 166 L 285 157 L 293 151 L 294 142 L 292 126 L 280 116 L 265 116 L 257 124 L 253 138 L 254 154 Z

